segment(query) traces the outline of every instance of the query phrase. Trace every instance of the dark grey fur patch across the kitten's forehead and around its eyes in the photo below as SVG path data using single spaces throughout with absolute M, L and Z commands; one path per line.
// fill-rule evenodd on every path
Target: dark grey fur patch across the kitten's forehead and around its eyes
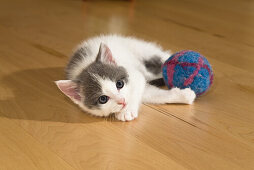
M 94 76 L 95 75 L 95 76 Z M 82 88 L 85 96 L 84 104 L 90 109 L 99 109 L 100 104 L 98 99 L 102 94 L 102 87 L 96 77 L 102 79 L 110 79 L 113 82 L 124 80 L 128 82 L 128 74 L 123 67 L 118 67 L 113 64 L 103 64 L 94 62 L 82 71 L 77 82 Z

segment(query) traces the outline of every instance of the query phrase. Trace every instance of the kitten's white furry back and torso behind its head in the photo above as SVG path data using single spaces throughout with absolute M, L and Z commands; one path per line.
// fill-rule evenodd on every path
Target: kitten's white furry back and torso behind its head
M 95 61 L 101 43 L 108 46 L 117 65 L 123 66 L 128 72 L 139 71 L 145 76 L 147 81 L 162 78 L 162 74 L 160 74 L 161 64 L 170 56 L 169 52 L 162 51 L 154 43 L 116 35 L 99 36 L 83 42 L 78 49 L 85 49 L 86 52 L 83 53 L 82 60 L 79 60 L 80 58 L 74 53 L 67 68 L 67 78 L 75 79 L 84 68 Z M 79 55 L 80 52 L 78 50 L 77 52 Z M 145 61 L 149 62 L 149 60 L 153 61 L 154 59 L 160 62 L 160 65 L 154 68 L 159 70 L 159 72 L 154 71 L 153 68 L 152 70 L 147 70 L 145 67 Z M 75 62 L 75 67 L 72 67 L 72 60 L 77 61 Z M 154 74 L 154 72 L 157 74 Z

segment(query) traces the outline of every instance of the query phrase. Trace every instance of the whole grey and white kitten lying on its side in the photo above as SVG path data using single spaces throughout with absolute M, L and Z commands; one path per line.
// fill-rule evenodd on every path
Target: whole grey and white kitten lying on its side
M 136 38 L 94 37 L 79 45 L 66 67 L 68 80 L 56 85 L 86 112 L 115 113 L 118 120 L 130 121 L 138 116 L 141 103 L 194 101 L 189 88 L 163 90 L 150 84 L 162 80 L 161 66 L 169 56 L 160 46 Z

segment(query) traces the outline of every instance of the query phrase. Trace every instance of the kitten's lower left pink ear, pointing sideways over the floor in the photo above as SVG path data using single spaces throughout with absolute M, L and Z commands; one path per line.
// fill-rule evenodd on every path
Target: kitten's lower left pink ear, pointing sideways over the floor
M 74 103 L 78 104 L 81 101 L 77 83 L 73 82 L 72 80 L 58 80 L 55 81 L 55 83 L 57 87 Z

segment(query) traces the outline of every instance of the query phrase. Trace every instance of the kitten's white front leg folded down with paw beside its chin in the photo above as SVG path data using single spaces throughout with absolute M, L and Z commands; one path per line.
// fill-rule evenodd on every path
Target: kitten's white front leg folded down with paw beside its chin
M 130 89 L 126 107 L 115 117 L 121 121 L 130 121 L 138 117 L 139 106 L 145 89 L 145 78 L 140 72 L 130 75 Z

